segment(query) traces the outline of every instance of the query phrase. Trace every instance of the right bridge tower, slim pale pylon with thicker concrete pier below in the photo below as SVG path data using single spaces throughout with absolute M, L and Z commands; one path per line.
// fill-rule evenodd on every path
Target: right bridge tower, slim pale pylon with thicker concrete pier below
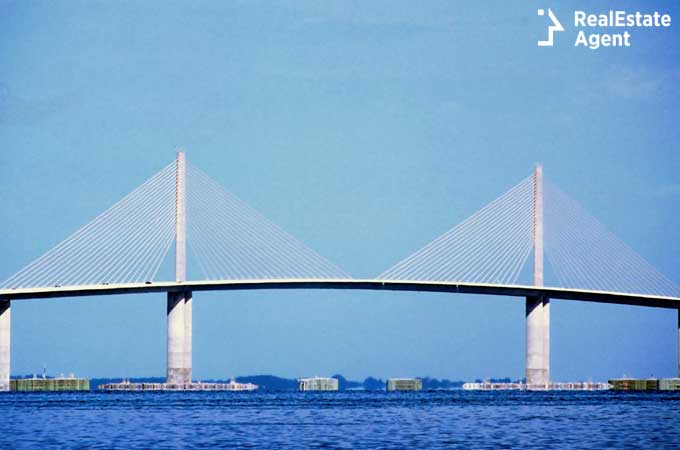
M 543 286 L 543 168 L 534 170 L 534 286 Z M 550 383 L 550 299 L 526 299 L 527 384 L 547 387 Z

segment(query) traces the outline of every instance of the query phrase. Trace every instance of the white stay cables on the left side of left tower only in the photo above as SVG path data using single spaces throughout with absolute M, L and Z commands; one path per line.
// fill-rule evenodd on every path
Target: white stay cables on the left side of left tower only
M 0 287 L 153 280 L 174 238 L 173 162 Z

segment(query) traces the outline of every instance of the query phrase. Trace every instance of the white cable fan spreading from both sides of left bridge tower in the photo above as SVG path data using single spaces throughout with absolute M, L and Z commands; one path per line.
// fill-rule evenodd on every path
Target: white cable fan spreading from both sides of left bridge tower
M 173 162 L 0 288 L 155 280 L 175 241 L 176 175 Z M 207 279 L 350 278 L 193 166 L 186 191 L 187 245 Z

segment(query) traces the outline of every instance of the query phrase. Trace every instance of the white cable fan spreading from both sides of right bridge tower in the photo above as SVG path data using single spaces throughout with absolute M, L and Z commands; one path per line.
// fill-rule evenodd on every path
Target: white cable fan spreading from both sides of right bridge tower
M 676 284 L 548 180 L 543 205 L 552 286 L 680 297 Z M 533 224 L 529 177 L 379 278 L 517 284 L 533 250 Z

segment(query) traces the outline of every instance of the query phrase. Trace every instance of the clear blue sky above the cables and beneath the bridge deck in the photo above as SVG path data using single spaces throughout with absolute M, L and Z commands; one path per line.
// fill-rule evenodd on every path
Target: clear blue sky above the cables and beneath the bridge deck
M 551 7 L 567 28 L 538 48 Z M 0 278 L 174 158 L 357 277 L 535 163 L 680 281 L 680 39 L 575 49 L 576 8 L 661 1 L 0 1 Z M 676 374 L 675 312 L 555 301 L 554 379 Z M 163 375 L 165 298 L 14 302 L 12 371 Z M 524 373 L 524 302 L 201 293 L 196 378 Z

